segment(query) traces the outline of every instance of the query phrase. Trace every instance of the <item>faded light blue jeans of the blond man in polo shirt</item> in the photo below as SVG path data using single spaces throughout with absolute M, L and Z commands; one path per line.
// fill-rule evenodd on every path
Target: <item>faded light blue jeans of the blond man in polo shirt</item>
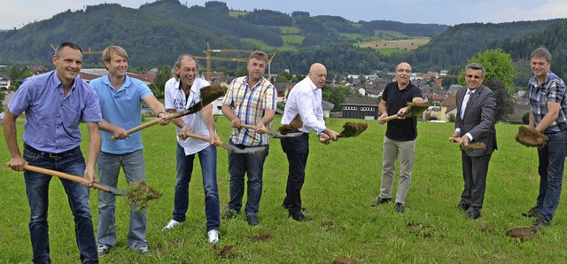
M 126 175 L 128 185 L 131 182 L 145 182 L 144 151 L 134 151 L 126 154 L 111 154 L 100 152 L 97 160 L 98 181 L 102 184 L 116 187 L 120 166 Z M 98 190 L 98 245 L 116 245 L 115 225 L 116 196 L 104 190 Z M 146 209 L 136 210 L 130 205 L 130 228 L 128 230 L 128 246 L 133 250 L 146 246 L 145 232 L 147 228 Z

